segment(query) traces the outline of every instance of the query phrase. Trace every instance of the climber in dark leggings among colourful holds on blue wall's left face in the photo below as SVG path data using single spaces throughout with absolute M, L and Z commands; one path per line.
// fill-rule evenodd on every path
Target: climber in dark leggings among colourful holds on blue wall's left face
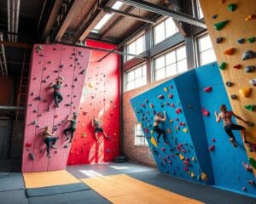
M 166 132 L 159 127 L 160 122 L 166 122 L 166 111 L 164 111 L 164 115 L 161 112 L 158 112 L 156 116 L 154 116 L 153 130 L 155 133 L 158 133 L 157 143 L 160 143 L 160 136 L 162 134 L 165 142 L 164 144 L 168 144 L 166 141 Z

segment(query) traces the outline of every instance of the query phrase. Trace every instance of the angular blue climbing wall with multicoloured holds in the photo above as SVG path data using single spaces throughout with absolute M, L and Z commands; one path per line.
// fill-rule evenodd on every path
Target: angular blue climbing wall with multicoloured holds
M 207 87 L 212 90 L 205 92 Z M 255 184 L 248 183 L 255 182 L 253 173 L 241 164 L 247 163 L 247 154 L 240 134 L 236 134 L 239 147 L 234 148 L 223 124 L 215 122 L 214 111 L 221 104 L 230 108 L 217 63 L 188 71 L 131 99 L 160 172 L 255 196 Z M 202 109 L 209 115 L 205 116 Z M 167 119 L 161 127 L 166 130 L 169 145 L 163 139 L 155 142 L 157 134 L 152 125 L 158 111 L 166 111 Z

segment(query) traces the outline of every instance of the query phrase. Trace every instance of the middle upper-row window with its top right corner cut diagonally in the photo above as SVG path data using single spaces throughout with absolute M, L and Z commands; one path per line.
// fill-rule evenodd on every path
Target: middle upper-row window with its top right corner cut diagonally
M 177 26 L 170 17 L 160 22 L 157 26 L 154 26 L 154 44 L 162 42 L 167 37 L 173 36 L 175 33 L 177 33 Z

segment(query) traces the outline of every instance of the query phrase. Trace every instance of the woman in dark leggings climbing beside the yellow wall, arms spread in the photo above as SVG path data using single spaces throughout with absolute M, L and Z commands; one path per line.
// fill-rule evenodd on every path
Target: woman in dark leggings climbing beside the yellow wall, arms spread
M 247 141 L 247 131 L 246 128 L 241 125 L 236 125 L 232 122 L 232 116 L 236 117 L 238 120 L 248 123 L 247 121 L 243 120 L 241 116 L 236 116 L 236 114 L 233 111 L 227 111 L 226 105 L 220 105 L 220 113 L 217 111 L 214 112 L 216 116 L 216 122 L 219 122 L 221 119 L 224 122 L 224 130 L 230 137 L 230 143 L 237 147 L 236 144 L 236 138 L 234 136 L 234 133 L 232 133 L 232 130 L 240 130 L 241 136 L 245 144 L 249 147 L 250 143 Z

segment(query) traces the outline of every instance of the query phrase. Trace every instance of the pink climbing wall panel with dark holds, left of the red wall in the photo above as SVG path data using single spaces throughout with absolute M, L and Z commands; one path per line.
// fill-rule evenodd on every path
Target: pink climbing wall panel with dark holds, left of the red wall
M 35 45 L 32 51 L 30 84 L 26 110 L 22 172 L 44 172 L 65 169 L 69 145 L 63 129 L 68 126 L 67 116 L 78 111 L 84 75 L 90 60 L 90 50 L 61 44 Z M 64 100 L 55 108 L 51 82 L 63 77 L 61 94 Z M 40 96 L 40 100 L 35 99 Z M 44 127 L 55 127 L 59 136 L 57 150 L 46 156 L 41 136 Z M 34 158 L 32 158 L 34 157 Z

